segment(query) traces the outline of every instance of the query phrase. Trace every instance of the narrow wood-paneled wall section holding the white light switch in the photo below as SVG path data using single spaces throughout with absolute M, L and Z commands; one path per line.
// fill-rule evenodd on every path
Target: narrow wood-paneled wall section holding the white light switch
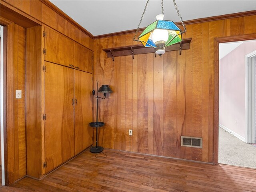
M 25 51 L 26 30 L 16 24 L 8 25 L 6 66 L 6 127 L 8 152 L 8 181 L 26 175 L 25 138 Z M 16 99 L 16 90 L 22 98 Z M 6 155 L 6 154 L 5 154 Z

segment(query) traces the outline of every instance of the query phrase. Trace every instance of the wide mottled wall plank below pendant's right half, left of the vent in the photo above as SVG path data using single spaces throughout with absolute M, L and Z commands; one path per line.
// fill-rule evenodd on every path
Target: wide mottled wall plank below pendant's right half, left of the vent
M 163 56 L 163 152 L 176 156 L 176 52 Z

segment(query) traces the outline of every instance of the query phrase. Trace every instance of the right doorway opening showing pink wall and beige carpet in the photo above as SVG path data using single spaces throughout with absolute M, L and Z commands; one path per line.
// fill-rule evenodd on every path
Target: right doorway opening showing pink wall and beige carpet
M 219 44 L 218 162 L 256 168 L 256 40 Z

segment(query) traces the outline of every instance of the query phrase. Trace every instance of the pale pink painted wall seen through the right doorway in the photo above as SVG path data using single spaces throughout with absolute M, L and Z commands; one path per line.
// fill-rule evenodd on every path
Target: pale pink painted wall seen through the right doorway
M 243 138 L 246 125 L 245 55 L 254 50 L 255 41 L 243 42 L 219 62 L 219 123 Z

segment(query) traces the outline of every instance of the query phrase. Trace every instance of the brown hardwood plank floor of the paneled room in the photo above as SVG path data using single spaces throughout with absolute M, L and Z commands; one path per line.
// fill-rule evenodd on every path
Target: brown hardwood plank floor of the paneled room
M 87 150 L 40 181 L 24 178 L 1 192 L 256 192 L 256 169 L 116 150 L 104 153 L 106 158 L 96 158 Z

